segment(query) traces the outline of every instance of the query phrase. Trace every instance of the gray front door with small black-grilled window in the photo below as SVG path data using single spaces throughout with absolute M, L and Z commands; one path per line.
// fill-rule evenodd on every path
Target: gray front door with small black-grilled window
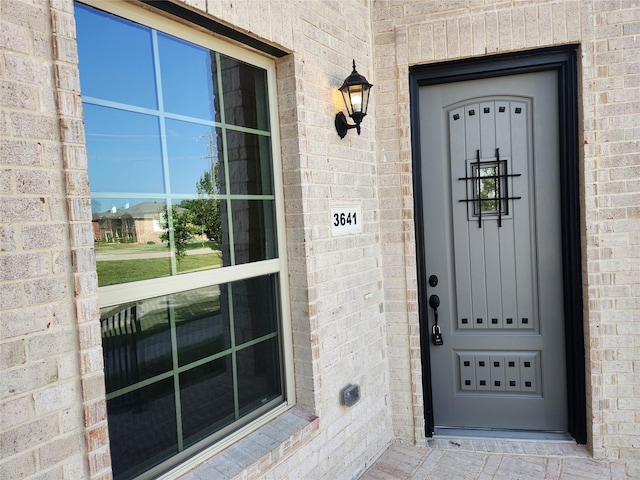
M 420 88 L 436 427 L 567 430 L 557 92 L 554 71 Z

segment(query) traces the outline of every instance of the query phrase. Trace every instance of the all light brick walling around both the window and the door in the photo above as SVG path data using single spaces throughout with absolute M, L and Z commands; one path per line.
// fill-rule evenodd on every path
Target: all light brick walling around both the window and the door
M 640 8 L 635 1 L 184 0 L 292 52 L 278 104 L 298 404 L 319 429 L 269 475 L 356 475 L 424 437 L 408 67 L 563 43 L 580 65 L 590 443 L 638 456 Z M 0 0 L 0 477 L 110 473 L 70 0 Z M 362 135 L 333 117 L 351 60 Z M 358 204 L 364 232 L 333 237 Z M 362 400 L 339 405 L 347 383 Z M 265 470 L 263 470 L 264 472 Z M 259 473 L 256 473 L 259 475 Z

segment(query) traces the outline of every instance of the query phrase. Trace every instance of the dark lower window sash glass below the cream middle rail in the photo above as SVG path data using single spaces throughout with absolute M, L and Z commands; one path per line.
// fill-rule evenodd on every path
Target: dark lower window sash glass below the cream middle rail
M 101 309 L 116 478 L 282 398 L 277 284 L 271 274 Z

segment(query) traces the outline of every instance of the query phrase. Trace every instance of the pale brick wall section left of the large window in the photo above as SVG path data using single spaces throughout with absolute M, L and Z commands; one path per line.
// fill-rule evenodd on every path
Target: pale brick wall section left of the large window
M 104 412 L 83 412 L 83 378 L 102 365 L 99 334 L 92 356 L 76 323 L 76 309 L 97 304 L 84 303 L 95 265 L 90 209 L 76 200 L 86 162 L 73 165 L 66 150 L 83 143 L 78 121 L 66 121 L 80 108 L 73 21 L 45 2 L 0 8 L 0 477 L 87 478 L 87 441 L 95 450 L 106 438 L 85 437 L 88 415 L 104 425 Z

